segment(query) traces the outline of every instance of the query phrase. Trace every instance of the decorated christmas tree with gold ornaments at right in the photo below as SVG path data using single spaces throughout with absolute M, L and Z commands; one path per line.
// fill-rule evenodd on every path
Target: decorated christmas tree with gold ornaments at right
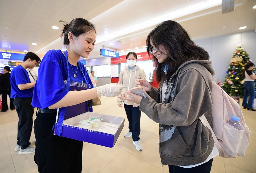
M 251 61 L 241 44 L 238 44 L 234 55 L 231 57 L 230 65 L 226 71 L 227 75 L 223 82 L 224 86 L 222 87 L 230 96 L 244 97 L 242 72 L 246 63 Z

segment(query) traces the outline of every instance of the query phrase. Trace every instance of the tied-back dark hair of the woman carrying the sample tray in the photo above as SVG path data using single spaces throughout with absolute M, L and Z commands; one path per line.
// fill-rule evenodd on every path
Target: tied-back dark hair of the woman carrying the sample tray
M 83 18 L 75 18 L 69 24 L 64 25 L 61 36 L 64 37 L 64 45 L 69 44 L 68 33 L 71 32 L 73 35 L 78 37 L 81 34 L 95 31 L 95 26 Z

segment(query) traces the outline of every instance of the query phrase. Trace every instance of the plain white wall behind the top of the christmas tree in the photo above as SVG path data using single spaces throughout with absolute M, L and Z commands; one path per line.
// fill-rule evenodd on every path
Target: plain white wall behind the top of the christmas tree
M 231 57 L 236 51 L 237 44 L 242 43 L 242 47 L 256 63 L 256 33 L 253 31 L 241 32 L 230 35 L 222 35 L 194 41 L 203 47 L 210 55 L 210 60 L 215 69 L 214 78 L 224 81 L 226 70 L 230 64 Z

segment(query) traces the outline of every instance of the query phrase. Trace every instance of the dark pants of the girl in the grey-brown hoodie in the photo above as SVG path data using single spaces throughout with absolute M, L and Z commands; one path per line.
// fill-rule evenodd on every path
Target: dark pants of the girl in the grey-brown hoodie
M 193 168 L 183 168 L 180 166 L 169 165 L 170 173 L 210 173 L 213 158 L 204 164 L 200 164 Z

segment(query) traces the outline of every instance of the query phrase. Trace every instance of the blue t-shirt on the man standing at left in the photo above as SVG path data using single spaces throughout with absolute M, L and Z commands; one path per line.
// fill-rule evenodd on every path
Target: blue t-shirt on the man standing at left
M 21 65 L 15 67 L 10 74 L 11 98 L 29 98 L 33 96 L 33 87 L 20 90 L 17 85 L 31 83 L 28 72 Z

